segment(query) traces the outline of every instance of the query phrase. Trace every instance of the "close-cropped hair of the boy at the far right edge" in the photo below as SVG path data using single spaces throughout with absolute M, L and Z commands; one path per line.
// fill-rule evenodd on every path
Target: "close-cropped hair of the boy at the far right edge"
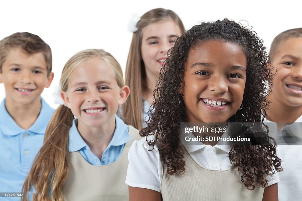
M 278 51 L 281 42 L 290 38 L 302 38 L 302 28 L 289 29 L 282 33 L 279 33 L 271 42 L 271 48 L 269 50 L 270 58 L 272 59 Z

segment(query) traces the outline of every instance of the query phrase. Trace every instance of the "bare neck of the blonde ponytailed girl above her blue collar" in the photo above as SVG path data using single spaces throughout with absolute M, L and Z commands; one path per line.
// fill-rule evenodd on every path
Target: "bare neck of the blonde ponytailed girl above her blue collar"
M 77 128 L 92 153 L 101 160 L 104 151 L 113 138 L 115 126 L 115 116 L 113 116 L 100 127 L 88 127 L 79 121 Z

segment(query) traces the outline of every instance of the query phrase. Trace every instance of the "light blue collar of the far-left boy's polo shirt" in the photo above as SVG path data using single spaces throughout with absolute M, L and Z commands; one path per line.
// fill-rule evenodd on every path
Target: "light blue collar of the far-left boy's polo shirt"
M 54 109 L 51 108 L 47 102 L 41 97 L 41 110 L 40 114 L 35 121 L 35 123 L 27 130 L 38 133 L 44 134 L 46 131 L 47 124 L 53 115 Z M 14 136 L 18 135 L 25 131 L 23 128 L 19 127 L 18 124 L 14 121 L 11 115 L 5 108 L 5 99 L 2 100 L 0 104 L 0 128 L 2 132 L 6 135 Z

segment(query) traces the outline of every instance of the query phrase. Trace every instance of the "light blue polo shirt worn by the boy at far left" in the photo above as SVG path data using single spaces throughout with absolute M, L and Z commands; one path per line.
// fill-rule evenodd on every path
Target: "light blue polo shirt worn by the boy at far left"
M 41 98 L 41 111 L 35 123 L 27 130 L 20 128 L 0 104 L 0 192 L 20 193 L 31 169 L 34 157 L 43 144 L 43 137 L 53 115 L 51 108 Z M 20 197 L 0 200 L 20 200 Z

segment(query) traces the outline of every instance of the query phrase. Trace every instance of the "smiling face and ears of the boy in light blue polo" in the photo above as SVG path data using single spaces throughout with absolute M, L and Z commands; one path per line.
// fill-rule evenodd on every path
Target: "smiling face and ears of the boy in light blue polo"
M 8 52 L 2 65 L 0 83 L 5 87 L 5 104 L 28 105 L 40 102 L 44 87 L 49 87 L 53 73 L 47 76 L 42 53 L 28 55 L 15 48 Z

